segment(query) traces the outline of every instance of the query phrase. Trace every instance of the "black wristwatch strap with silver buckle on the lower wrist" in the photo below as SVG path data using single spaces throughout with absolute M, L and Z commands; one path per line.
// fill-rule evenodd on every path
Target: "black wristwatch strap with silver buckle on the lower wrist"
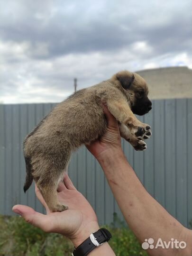
M 97 232 L 92 233 L 81 245 L 74 249 L 73 256 L 86 256 L 95 247 L 100 246 L 102 243 L 109 241 L 111 238 L 110 231 L 107 229 L 99 229 Z

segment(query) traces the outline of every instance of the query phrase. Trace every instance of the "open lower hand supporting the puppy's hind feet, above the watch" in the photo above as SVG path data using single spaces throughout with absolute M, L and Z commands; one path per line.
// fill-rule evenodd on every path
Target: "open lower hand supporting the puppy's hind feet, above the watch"
M 36 195 L 46 208 L 46 215 L 25 205 L 15 205 L 12 208 L 30 224 L 45 232 L 60 233 L 70 238 L 75 247 L 99 229 L 94 210 L 85 197 L 76 190 L 67 174 L 64 176 L 64 182 L 59 183 L 57 195 L 59 201 L 68 205 L 68 210 L 50 212 L 37 186 Z

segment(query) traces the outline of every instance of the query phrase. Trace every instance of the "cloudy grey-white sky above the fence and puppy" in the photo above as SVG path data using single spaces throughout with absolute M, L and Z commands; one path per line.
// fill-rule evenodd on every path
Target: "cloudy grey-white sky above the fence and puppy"
M 191 0 L 0 0 L 0 102 L 59 102 L 119 70 L 192 68 Z

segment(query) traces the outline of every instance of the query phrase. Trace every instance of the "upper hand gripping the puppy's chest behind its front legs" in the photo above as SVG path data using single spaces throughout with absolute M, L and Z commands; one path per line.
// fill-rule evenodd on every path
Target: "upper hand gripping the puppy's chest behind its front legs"
M 117 151 L 122 152 L 118 121 L 110 113 L 107 106 L 102 105 L 102 107 L 107 118 L 106 132 L 100 139 L 93 141 L 90 145 L 86 145 L 87 149 L 97 159 L 106 154 L 113 154 Z

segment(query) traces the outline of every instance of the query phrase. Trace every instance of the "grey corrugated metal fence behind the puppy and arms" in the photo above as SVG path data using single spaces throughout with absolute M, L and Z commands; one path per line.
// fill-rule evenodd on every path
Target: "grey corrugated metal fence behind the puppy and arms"
M 22 141 L 55 104 L 0 105 L 0 214 L 12 214 L 14 204 L 27 204 L 43 212 L 34 185 L 25 194 Z M 152 126 L 145 152 L 122 146 L 147 191 L 184 226 L 192 219 L 192 99 L 156 100 L 141 121 Z M 118 171 L 118 170 L 117 170 Z M 116 212 L 123 219 L 100 165 L 80 148 L 69 174 L 77 189 L 96 210 L 101 224 Z

